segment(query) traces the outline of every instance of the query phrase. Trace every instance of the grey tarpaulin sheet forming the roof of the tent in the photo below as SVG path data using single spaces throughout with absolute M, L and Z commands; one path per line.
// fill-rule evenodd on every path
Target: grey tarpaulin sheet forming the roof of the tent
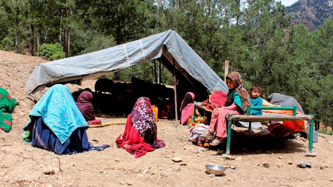
M 173 67 L 190 82 L 198 81 L 210 92 L 228 87 L 223 80 L 174 31 L 168 30 L 140 40 L 39 64 L 26 84 L 27 94 L 55 83 L 85 80 L 110 74 L 120 69 L 163 57 L 163 64 Z M 172 72 L 172 70 L 171 70 Z

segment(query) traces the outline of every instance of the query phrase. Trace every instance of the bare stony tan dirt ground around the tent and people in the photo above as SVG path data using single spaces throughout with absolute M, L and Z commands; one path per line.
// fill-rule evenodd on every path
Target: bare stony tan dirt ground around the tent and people
M 158 138 L 165 140 L 166 147 L 137 159 L 116 147 L 115 139 L 123 133 L 124 125 L 87 130 L 94 145 L 110 144 L 100 152 L 56 155 L 34 148 L 22 141 L 22 128 L 34 106 L 24 90 L 33 67 L 41 62 L 45 60 L 0 51 L 0 87 L 20 101 L 13 113 L 12 130 L 0 131 L 0 186 L 333 186 L 333 137 L 323 134 L 319 143 L 314 143 L 316 157 L 304 156 L 308 142 L 300 139 L 276 141 L 238 136 L 231 139 L 231 155 L 236 159 L 225 160 L 215 155 L 216 150 L 189 143 L 187 127 L 168 120 L 157 123 Z M 95 81 L 67 86 L 72 92 L 78 88 L 94 89 Z M 126 120 L 106 117 L 103 122 Z M 181 157 L 181 163 L 186 165 L 180 166 L 172 157 Z M 312 168 L 296 167 L 305 160 L 312 162 Z M 205 173 L 208 163 L 235 169 L 228 168 L 224 176 L 211 178 Z M 269 167 L 263 167 L 263 163 Z M 52 170 L 55 174 L 44 174 Z

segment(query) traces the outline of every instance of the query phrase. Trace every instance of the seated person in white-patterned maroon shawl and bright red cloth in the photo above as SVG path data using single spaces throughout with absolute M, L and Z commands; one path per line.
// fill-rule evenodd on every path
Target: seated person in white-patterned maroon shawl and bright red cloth
M 157 139 L 155 114 L 150 99 L 140 97 L 137 100 L 131 114 L 127 116 L 124 134 L 119 135 L 116 143 L 117 147 L 135 154 L 135 158 L 165 146 L 163 140 Z

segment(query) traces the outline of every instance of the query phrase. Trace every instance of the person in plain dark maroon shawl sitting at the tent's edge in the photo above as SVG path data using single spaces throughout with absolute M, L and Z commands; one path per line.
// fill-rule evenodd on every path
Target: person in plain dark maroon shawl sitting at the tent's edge
M 92 102 L 93 94 L 88 91 L 83 91 L 75 102 L 86 121 L 95 120 L 95 111 Z

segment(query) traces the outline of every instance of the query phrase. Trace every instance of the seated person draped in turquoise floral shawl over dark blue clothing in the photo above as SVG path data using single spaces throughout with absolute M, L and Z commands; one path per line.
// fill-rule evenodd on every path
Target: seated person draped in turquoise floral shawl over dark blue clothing
M 48 89 L 32 108 L 30 122 L 23 128 L 23 140 L 34 147 L 56 154 L 74 154 L 103 150 L 109 145 L 93 147 L 88 142 L 84 119 L 69 89 L 56 84 Z

